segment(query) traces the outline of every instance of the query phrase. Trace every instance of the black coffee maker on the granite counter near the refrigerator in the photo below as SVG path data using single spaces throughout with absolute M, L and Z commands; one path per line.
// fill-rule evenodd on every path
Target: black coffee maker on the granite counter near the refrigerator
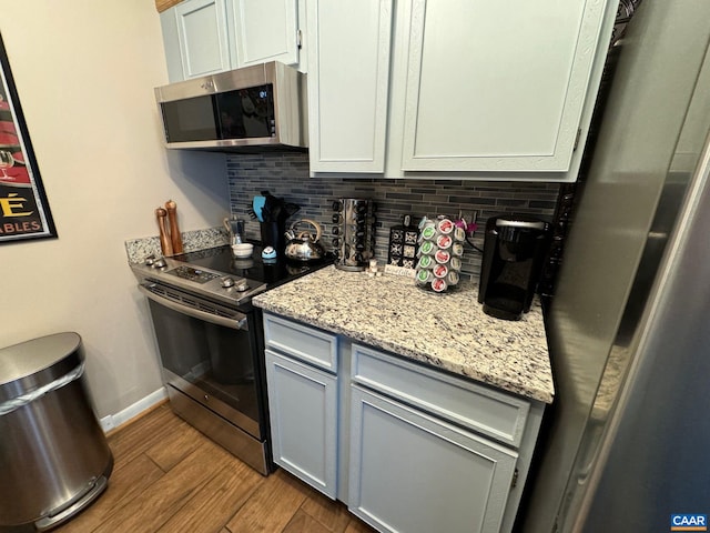
M 530 310 L 548 243 L 545 221 L 525 214 L 488 219 L 478 288 L 486 314 L 520 320 Z

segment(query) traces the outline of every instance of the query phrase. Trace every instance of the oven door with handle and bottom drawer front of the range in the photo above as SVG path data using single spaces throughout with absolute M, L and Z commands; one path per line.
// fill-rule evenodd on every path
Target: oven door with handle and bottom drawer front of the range
M 258 323 L 169 285 L 145 281 L 173 410 L 262 474 L 270 471 Z

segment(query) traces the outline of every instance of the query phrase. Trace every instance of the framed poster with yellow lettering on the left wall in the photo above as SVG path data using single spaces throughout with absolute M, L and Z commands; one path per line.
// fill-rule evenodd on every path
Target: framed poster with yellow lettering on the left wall
M 1 36 L 0 78 L 0 244 L 55 238 Z

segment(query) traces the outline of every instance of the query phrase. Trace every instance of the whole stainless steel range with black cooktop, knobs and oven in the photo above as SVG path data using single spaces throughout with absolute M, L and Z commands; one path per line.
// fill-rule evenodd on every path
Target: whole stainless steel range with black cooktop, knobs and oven
M 256 471 L 272 469 L 262 318 L 252 298 L 327 264 L 230 247 L 132 264 L 149 299 L 173 411 Z

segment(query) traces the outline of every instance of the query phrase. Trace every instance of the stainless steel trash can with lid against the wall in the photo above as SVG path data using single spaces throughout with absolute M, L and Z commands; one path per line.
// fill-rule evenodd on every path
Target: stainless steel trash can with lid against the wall
M 0 532 L 44 531 L 98 497 L 113 455 L 77 333 L 0 349 Z

